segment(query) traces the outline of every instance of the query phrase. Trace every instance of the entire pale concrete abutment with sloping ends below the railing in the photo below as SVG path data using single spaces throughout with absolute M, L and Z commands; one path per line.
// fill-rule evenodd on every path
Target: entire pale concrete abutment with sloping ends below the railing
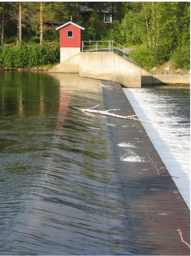
M 113 80 L 126 87 L 141 88 L 141 84 L 152 84 L 153 76 L 141 67 L 115 53 L 78 53 L 48 72 L 79 73 L 80 76 Z

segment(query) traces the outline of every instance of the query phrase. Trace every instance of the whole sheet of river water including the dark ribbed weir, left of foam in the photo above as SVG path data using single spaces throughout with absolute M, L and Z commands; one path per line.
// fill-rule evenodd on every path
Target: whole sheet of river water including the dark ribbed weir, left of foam
M 135 115 L 120 84 L 1 78 L 1 255 L 190 255 L 190 211 L 142 123 L 77 109 Z

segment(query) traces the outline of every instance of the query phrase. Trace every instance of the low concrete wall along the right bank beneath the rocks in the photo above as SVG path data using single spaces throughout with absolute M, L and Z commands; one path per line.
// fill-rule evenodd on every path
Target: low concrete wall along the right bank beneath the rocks
M 153 84 L 190 84 L 190 75 L 153 75 Z

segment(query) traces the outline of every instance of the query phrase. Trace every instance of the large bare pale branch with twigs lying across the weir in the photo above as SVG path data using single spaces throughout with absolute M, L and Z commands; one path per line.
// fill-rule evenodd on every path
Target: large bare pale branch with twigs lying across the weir
M 99 105 L 97 105 L 97 106 L 99 106 Z M 97 107 L 97 106 L 95 106 L 95 107 Z M 144 122 L 147 122 L 147 123 L 151 123 L 151 122 L 146 121 L 146 120 L 133 118 L 133 116 L 140 116 L 140 115 L 121 116 L 121 115 L 117 115 L 117 114 L 114 114 L 114 113 L 109 113 L 109 111 L 112 111 L 112 110 L 116 111 L 116 110 L 120 110 L 120 109 L 109 109 L 109 110 L 104 110 L 103 111 L 103 110 L 94 110 L 93 108 L 95 108 L 95 107 L 92 107 L 92 108 L 75 107 L 75 108 L 79 111 L 82 111 L 82 112 L 99 113 L 99 114 L 115 116 L 115 117 L 119 117 L 119 118 L 123 118 L 123 119 L 130 119 L 130 120 L 135 120 L 135 121 L 144 121 Z

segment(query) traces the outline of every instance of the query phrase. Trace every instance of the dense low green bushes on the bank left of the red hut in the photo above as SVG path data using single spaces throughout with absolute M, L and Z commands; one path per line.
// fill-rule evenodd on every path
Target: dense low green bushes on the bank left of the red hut
M 59 45 L 42 46 L 30 42 L 21 43 L 19 46 L 4 45 L 0 50 L 0 67 L 23 68 L 39 67 L 47 64 L 54 64 L 59 61 Z

